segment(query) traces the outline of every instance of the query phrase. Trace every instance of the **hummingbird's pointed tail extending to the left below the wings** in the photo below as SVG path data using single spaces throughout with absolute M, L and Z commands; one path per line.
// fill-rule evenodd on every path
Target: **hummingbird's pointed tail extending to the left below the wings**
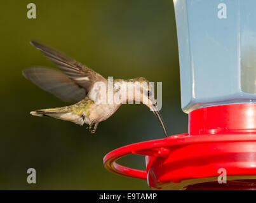
M 46 108 L 41 110 L 34 110 L 30 112 L 31 115 L 36 115 L 39 117 L 49 116 L 55 119 L 60 119 L 64 121 L 71 121 L 79 125 L 83 125 L 86 119 L 83 115 L 74 114 L 69 107 L 57 107 L 57 108 Z

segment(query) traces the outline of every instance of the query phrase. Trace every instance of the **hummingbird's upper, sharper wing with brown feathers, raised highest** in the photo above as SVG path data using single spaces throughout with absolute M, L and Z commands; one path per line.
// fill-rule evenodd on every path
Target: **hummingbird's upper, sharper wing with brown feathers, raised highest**
M 58 67 L 72 79 L 72 81 L 86 89 L 87 93 L 95 82 L 106 80 L 102 75 L 89 69 L 82 63 L 65 56 L 49 46 L 37 43 L 36 41 L 31 41 L 30 43 L 36 46 L 36 48 L 44 53 L 44 55 L 46 55 L 52 62 L 56 63 Z

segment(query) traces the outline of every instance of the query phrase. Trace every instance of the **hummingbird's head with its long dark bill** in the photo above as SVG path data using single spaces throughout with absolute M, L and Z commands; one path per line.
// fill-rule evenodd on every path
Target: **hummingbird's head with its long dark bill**
M 163 127 L 163 131 L 165 132 L 165 136 L 167 137 L 167 131 L 165 127 L 165 123 L 163 122 L 163 119 L 161 117 L 161 114 L 159 113 L 156 99 L 154 96 L 154 85 L 151 84 L 147 79 L 144 77 L 137 77 L 135 79 L 131 79 L 131 82 L 133 82 L 134 86 L 133 89 L 133 101 L 136 103 L 143 103 L 149 109 L 158 117 L 161 126 Z M 128 88 L 128 91 L 131 91 L 131 88 Z M 129 92 L 128 92 L 129 95 Z

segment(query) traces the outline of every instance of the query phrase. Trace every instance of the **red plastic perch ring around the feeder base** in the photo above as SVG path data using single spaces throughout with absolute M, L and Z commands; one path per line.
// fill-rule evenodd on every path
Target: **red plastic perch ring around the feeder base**
M 235 141 L 255 141 L 256 134 L 218 134 L 217 136 L 190 136 L 189 134 L 178 134 L 175 136 L 169 136 L 159 140 L 150 140 L 140 143 L 134 143 L 125 147 L 117 148 L 112 152 L 109 152 L 104 157 L 104 166 L 107 170 L 121 174 L 124 176 L 130 176 L 133 178 L 147 179 L 146 171 L 140 171 L 137 169 L 131 169 L 130 167 L 121 166 L 116 163 L 116 160 L 121 157 L 125 157 L 129 154 L 149 155 L 155 157 L 165 157 L 169 154 L 170 147 L 175 145 L 188 145 L 193 143 L 217 143 L 217 142 L 235 142 Z M 256 148 L 255 148 L 256 150 Z M 203 155 L 203 154 L 202 154 Z

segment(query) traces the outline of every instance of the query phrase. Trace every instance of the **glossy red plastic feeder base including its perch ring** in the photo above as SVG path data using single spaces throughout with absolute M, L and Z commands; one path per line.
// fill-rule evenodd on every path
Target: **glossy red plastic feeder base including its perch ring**
M 146 171 L 116 163 L 128 154 L 145 155 Z M 194 110 L 189 134 L 118 148 L 105 155 L 104 166 L 147 179 L 152 189 L 256 190 L 256 103 Z

